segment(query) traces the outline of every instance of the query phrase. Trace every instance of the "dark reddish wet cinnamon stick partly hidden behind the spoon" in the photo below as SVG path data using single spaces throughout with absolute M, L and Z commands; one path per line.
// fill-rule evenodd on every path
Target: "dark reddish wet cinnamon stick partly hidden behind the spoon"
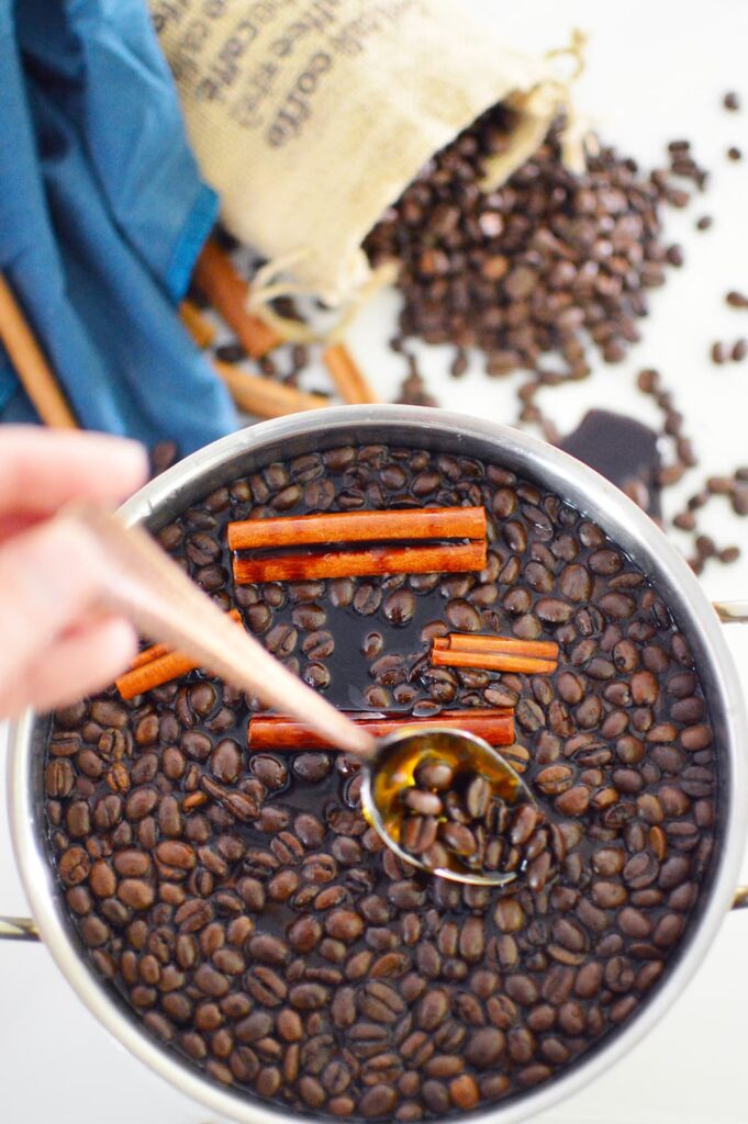
M 403 726 L 416 726 L 418 731 L 447 726 L 449 729 L 461 729 L 483 737 L 489 745 L 511 745 L 514 742 L 514 711 L 507 707 L 444 710 L 434 718 L 413 718 L 411 715 L 371 718 L 366 713 L 349 713 L 346 717 L 357 725 L 366 726 L 373 737 L 386 737 Z M 250 718 L 247 745 L 251 752 L 335 749 L 303 723 L 283 715 L 255 715 Z

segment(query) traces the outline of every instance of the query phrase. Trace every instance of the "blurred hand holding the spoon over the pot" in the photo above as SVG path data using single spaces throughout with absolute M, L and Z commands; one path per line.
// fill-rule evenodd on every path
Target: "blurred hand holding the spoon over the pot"
M 0 718 L 72 703 L 135 654 L 132 625 L 96 609 L 106 565 L 96 542 L 49 517 L 73 499 L 125 499 L 146 475 L 133 441 L 0 427 Z

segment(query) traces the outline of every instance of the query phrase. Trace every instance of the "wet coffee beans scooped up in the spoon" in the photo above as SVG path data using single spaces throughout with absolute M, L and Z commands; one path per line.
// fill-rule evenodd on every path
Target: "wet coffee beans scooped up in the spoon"
M 403 790 L 400 846 L 431 870 L 524 874 L 530 887 L 548 881 L 564 841 L 526 800 L 513 807 L 472 769 L 458 772 L 439 759 L 422 762 Z M 507 879 L 508 880 L 508 879 Z

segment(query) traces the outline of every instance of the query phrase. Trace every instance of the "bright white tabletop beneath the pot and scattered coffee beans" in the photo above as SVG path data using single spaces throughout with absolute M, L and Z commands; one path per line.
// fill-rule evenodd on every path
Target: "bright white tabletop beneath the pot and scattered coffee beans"
M 728 289 L 748 291 L 748 3 L 471 2 L 501 19 L 516 46 L 560 45 L 573 26 L 591 31 L 578 102 L 601 135 L 645 166 L 661 160 L 665 142 L 687 137 L 712 170 L 706 194 L 668 217 L 668 232 L 685 247 L 686 265 L 672 271 L 656 293 L 652 316 L 642 325 L 643 342 L 627 363 L 600 368 L 585 383 L 546 391 L 542 401 L 562 429 L 573 428 L 592 406 L 628 410 L 656 424 L 657 414 L 634 390 L 634 377 L 642 366 L 658 366 L 677 391 L 703 465 L 670 490 L 673 511 L 674 502 L 696 489 L 704 470 L 719 473 L 748 463 L 748 362 L 714 368 L 708 359 L 714 339 L 748 336 L 748 312 L 728 309 L 723 301 Z M 742 112 L 721 108 L 729 89 L 741 93 Z M 741 163 L 724 157 L 732 144 L 746 153 Z M 714 216 L 712 230 L 703 234 L 693 228 L 702 214 Z M 360 317 L 351 341 L 382 397 L 394 395 L 402 377 L 384 343 L 395 308 L 394 298 L 380 298 Z M 423 364 L 445 407 L 495 420 L 514 418 L 516 378 L 489 381 L 476 368 L 451 381 L 439 350 L 424 351 Z M 747 597 L 748 519 L 730 518 L 726 508 L 714 502 L 705 523 L 722 545 L 741 545 L 745 556 L 730 568 L 709 568 L 703 582 L 712 598 Z M 748 668 L 748 629 L 733 626 L 729 643 L 739 668 Z M 742 677 L 748 690 L 748 671 Z M 0 769 L 4 758 L 0 729 Z M 748 881 L 748 854 L 745 876 Z M 1 805 L 0 912 L 26 912 Z M 746 949 L 748 913 L 727 917 L 706 961 L 657 1028 L 584 1091 L 538 1117 L 541 1124 L 747 1122 Z M 40 945 L 2 945 L 0 997 L 0 1121 L 218 1124 L 108 1036 Z

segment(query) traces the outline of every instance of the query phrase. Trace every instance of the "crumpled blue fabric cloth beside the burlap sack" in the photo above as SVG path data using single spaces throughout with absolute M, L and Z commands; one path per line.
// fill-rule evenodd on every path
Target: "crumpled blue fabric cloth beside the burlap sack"
M 0 0 L 0 270 L 84 427 L 235 428 L 175 311 L 216 214 L 145 0 Z M 4 353 L 0 411 L 36 419 Z

